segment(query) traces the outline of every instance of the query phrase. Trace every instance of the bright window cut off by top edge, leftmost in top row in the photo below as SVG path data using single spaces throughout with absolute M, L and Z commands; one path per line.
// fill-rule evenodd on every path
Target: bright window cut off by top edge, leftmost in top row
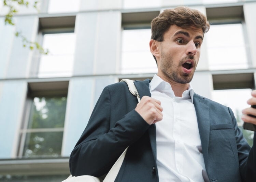
M 48 13 L 68 13 L 79 11 L 80 0 L 49 0 Z

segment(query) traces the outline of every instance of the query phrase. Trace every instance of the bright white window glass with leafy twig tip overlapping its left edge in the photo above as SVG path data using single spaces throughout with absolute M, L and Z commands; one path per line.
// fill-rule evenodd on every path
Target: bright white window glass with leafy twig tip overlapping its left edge
M 48 55 L 41 55 L 38 77 L 72 76 L 75 33 L 43 35 L 43 48 Z

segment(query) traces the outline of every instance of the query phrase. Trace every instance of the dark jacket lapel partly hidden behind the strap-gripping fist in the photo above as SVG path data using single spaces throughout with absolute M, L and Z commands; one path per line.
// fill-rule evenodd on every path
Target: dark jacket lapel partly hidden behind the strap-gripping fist
M 150 89 L 149 89 L 149 84 L 150 84 L 150 79 L 146 79 L 144 81 L 134 81 L 134 85 L 136 86 L 140 98 L 143 96 L 149 96 L 151 97 Z M 153 124 L 148 128 L 148 135 L 150 138 L 150 144 L 153 152 L 154 159 L 156 161 L 156 125 Z

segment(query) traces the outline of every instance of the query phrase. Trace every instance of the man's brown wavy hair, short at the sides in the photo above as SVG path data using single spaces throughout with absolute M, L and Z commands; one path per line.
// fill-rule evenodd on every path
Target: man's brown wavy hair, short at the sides
M 188 28 L 189 26 L 202 28 L 203 33 L 207 33 L 210 29 L 207 17 L 200 11 L 185 6 L 179 6 L 164 10 L 151 21 L 151 39 L 159 42 L 163 41 L 163 34 L 174 24 L 182 28 Z

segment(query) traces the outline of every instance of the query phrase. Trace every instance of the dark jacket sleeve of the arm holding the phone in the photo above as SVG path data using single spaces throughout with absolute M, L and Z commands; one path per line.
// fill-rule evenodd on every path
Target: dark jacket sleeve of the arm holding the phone
M 252 148 L 247 144 L 245 138 L 243 137 L 242 131 L 237 126 L 237 121 L 234 117 L 233 112 L 229 108 L 231 113 L 234 132 L 237 141 L 237 150 L 239 156 L 240 165 L 240 175 L 243 182 L 255 182 L 256 181 L 256 151 L 254 146 L 256 145 L 256 136 L 254 134 L 253 146 Z

